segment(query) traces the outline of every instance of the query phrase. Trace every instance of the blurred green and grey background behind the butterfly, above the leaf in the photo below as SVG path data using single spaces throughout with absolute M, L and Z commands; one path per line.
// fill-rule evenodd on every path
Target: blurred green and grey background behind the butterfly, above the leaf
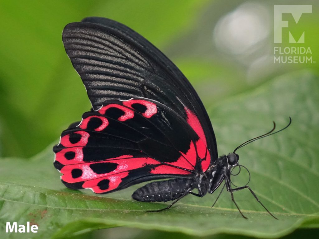
M 311 69 L 318 75 L 316 63 L 274 64 L 273 8 L 277 4 L 300 2 L 1 1 L 0 156 L 33 156 L 57 142 L 62 130 L 90 108 L 62 44 L 66 24 L 101 16 L 128 25 L 182 70 L 208 108 L 286 72 Z M 292 34 L 300 36 L 305 31 L 305 44 L 289 44 L 284 28 L 280 46 L 310 47 L 317 60 L 319 3 L 302 4 L 313 5 L 313 13 L 303 14 L 298 24 L 291 14 L 283 14 L 282 19 L 289 21 Z M 106 229 L 83 238 L 168 237 L 125 230 Z

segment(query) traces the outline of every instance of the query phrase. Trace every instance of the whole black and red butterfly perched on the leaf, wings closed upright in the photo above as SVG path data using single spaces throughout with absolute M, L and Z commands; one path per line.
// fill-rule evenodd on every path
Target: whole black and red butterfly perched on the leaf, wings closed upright
M 213 193 L 225 182 L 222 189 L 226 186 L 244 218 L 235 191 L 247 188 L 267 210 L 248 185 L 232 188 L 230 176 L 240 167 L 235 151 L 281 131 L 273 132 L 275 124 L 218 157 L 211 121 L 196 91 L 144 37 L 114 20 L 89 17 L 66 25 L 62 39 L 92 105 L 53 148 L 54 166 L 66 187 L 109 193 L 163 179 L 132 194 L 138 201 L 173 201 L 161 211 L 188 194 Z

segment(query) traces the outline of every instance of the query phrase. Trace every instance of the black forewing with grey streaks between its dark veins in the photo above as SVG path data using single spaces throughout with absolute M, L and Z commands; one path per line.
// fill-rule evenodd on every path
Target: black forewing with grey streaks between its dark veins
M 87 90 L 94 110 L 109 100 L 148 98 L 184 120 L 185 108 L 201 122 L 211 162 L 217 146 L 207 112 L 182 72 L 144 37 L 107 18 L 85 18 L 63 30 L 66 53 Z

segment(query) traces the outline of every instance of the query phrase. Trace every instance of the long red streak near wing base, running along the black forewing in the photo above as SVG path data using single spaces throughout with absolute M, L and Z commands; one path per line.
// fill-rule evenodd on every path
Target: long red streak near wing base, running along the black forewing
M 196 134 L 199 137 L 199 140 L 196 141 L 196 151 L 197 151 L 198 157 L 202 159 L 202 162 L 201 162 L 202 170 L 203 172 L 205 172 L 211 163 L 211 156 L 207 149 L 207 141 L 204 134 L 204 130 L 197 116 L 188 108 L 185 107 L 184 109 L 187 114 L 187 123 L 190 125 L 190 127 L 193 128 L 193 130 L 196 132 Z

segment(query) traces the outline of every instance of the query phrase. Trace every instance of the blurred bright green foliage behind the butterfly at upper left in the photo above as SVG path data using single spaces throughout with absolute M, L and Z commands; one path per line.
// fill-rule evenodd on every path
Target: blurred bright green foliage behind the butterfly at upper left
M 91 107 L 64 51 L 66 24 L 108 17 L 162 48 L 194 26 L 206 2 L 1 1 L 1 155 L 33 156 Z

